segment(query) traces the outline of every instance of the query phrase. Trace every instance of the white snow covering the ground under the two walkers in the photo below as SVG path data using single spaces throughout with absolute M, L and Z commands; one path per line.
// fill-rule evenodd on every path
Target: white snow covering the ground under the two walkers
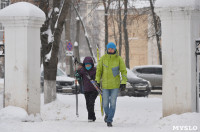
M 2 94 L 0 94 L 2 96 Z M 118 97 L 113 128 L 108 128 L 101 116 L 99 97 L 95 111 L 97 120 L 87 122 L 85 99 L 79 94 L 79 117 L 76 117 L 75 95 L 58 94 L 57 100 L 44 105 L 41 94 L 41 115 L 27 116 L 18 107 L 0 107 L 1 132 L 157 132 L 173 131 L 173 126 L 197 126 L 200 114 L 185 113 L 162 118 L 161 98 Z M 0 100 L 0 102 L 2 102 Z M 11 112 L 13 113 L 11 114 Z

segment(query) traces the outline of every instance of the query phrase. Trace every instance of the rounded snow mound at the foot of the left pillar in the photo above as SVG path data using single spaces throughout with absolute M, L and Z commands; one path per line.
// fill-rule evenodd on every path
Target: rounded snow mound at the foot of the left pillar
M 7 120 L 25 121 L 27 117 L 27 112 L 19 107 L 8 106 L 0 110 L 0 122 Z

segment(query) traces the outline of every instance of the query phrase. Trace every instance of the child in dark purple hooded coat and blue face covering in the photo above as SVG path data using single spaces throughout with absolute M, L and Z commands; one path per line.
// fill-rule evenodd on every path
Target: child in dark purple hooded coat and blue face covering
M 87 77 L 89 75 L 91 79 L 95 80 L 96 76 L 96 68 L 94 67 L 94 62 L 91 57 L 85 57 L 83 61 L 83 67 L 79 70 L 78 73 L 83 80 L 84 96 L 88 111 L 88 121 L 93 122 L 96 120 L 94 105 L 98 96 L 98 92 L 90 82 L 90 79 Z

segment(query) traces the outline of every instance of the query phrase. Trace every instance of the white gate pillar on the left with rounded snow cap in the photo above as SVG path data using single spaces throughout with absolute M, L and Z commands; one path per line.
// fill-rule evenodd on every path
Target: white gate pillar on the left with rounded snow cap
M 5 106 L 40 112 L 40 27 L 45 14 L 26 2 L 0 11 L 5 27 Z

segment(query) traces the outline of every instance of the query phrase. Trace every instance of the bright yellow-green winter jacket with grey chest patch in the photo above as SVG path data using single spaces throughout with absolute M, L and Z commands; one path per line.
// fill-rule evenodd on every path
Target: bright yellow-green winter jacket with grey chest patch
M 121 82 L 120 82 L 121 72 Z M 103 89 L 115 89 L 121 84 L 126 84 L 127 71 L 123 59 L 118 54 L 105 54 L 97 65 L 97 83 L 102 81 Z

